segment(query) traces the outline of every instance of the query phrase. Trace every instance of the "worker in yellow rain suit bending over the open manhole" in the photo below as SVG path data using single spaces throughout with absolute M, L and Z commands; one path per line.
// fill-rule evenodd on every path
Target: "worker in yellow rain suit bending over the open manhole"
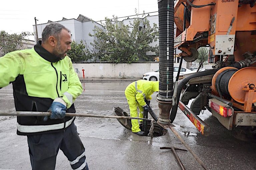
M 138 80 L 129 84 L 125 89 L 125 97 L 130 107 L 131 117 L 137 117 L 137 107 L 140 109 L 139 118 L 143 118 L 143 110 L 148 110 L 144 97 L 150 101 L 151 95 L 159 91 L 159 81 Z M 144 132 L 140 130 L 137 119 L 132 119 L 132 132 L 143 136 Z M 142 121 L 142 120 L 141 120 Z

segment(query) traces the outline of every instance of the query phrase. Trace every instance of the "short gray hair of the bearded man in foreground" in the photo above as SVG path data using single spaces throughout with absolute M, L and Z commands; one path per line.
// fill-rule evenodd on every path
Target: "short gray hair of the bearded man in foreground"
M 47 25 L 42 32 L 42 42 L 47 41 L 50 36 L 54 36 L 59 40 L 59 35 L 62 29 L 67 30 L 70 33 L 70 31 L 61 24 L 51 23 Z

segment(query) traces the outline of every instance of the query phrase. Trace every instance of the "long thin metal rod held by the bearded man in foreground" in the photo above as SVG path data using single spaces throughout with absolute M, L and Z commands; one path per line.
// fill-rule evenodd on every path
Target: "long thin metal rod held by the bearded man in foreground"
M 50 112 L 23 112 L 23 111 L 0 112 L 0 116 L 50 116 L 50 115 L 51 115 Z M 76 114 L 76 113 L 66 113 L 66 116 L 149 120 L 149 119 L 144 119 L 144 118 L 127 117 L 127 116 L 108 116 L 108 115 L 92 115 L 92 114 Z

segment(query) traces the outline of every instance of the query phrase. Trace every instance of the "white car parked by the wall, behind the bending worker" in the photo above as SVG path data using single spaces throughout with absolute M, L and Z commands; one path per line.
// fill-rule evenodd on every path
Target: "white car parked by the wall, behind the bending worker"
M 173 67 L 173 82 L 175 82 L 175 80 L 176 80 L 178 69 L 179 69 L 179 67 Z M 194 73 L 194 72 L 195 71 L 191 71 L 188 68 L 181 67 L 180 75 Z M 143 74 L 143 80 L 158 81 L 159 80 L 159 70 Z

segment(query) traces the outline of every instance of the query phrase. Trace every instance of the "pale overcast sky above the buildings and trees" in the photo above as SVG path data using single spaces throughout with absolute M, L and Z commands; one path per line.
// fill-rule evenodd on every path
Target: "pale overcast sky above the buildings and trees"
M 79 14 L 99 21 L 105 17 L 112 18 L 112 15 L 135 15 L 135 8 L 139 13 L 155 12 L 158 11 L 157 2 L 158 0 L 1 0 L 0 30 L 9 34 L 33 32 L 34 17 L 39 20 L 37 24 L 43 24 L 48 20 L 60 21 L 62 17 L 77 19 Z M 123 19 L 125 18 L 119 20 Z

